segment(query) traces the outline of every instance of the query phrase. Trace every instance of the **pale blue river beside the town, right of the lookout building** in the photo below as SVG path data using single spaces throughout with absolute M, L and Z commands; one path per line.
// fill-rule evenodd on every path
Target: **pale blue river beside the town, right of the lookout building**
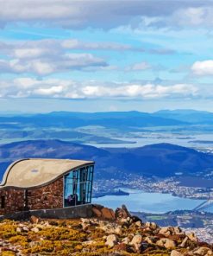
M 141 190 L 122 189 L 129 195 L 105 195 L 93 198 L 93 203 L 102 204 L 116 209 L 125 204 L 130 211 L 161 214 L 175 210 L 192 210 L 204 200 L 188 199 L 173 196 L 171 194 L 145 193 Z M 213 213 L 213 207 L 205 209 Z

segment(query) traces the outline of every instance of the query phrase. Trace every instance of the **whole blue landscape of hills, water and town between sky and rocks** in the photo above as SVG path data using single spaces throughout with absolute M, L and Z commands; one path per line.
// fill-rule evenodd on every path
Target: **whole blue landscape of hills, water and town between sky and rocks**
M 212 115 L 177 111 L 3 116 L 0 179 L 20 158 L 93 160 L 93 202 L 110 208 L 125 203 L 147 221 L 195 228 L 197 236 L 210 241 Z

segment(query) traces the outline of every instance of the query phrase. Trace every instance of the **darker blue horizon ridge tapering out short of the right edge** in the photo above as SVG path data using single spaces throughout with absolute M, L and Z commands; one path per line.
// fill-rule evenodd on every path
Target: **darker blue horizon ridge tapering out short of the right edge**
M 158 117 L 145 112 L 50 112 L 35 115 L 0 117 L 0 127 L 58 127 L 76 128 L 88 125 L 101 125 L 107 128 L 147 127 L 184 125 L 186 122 L 172 118 Z

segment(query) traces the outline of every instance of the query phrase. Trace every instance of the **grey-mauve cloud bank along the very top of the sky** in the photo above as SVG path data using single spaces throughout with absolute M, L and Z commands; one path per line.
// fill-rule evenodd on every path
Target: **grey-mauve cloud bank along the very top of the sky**
M 70 0 L 0 0 L 0 22 L 34 22 L 45 24 L 57 24 L 66 28 L 85 27 L 111 29 L 120 25 L 131 24 L 135 26 L 138 17 L 144 17 L 144 25 L 153 23 L 160 25 L 164 21 L 160 17 L 172 16 L 179 10 L 187 10 L 185 21 L 192 24 L 203 22 L 203 9 L 210 20 L 209 12 L 212 2 L 202 1 L 160 1 L 156 4 L 155 0 L 149 1 L 126 1 L 126 0 L 102 0 L 102 1 L 70 1 Z M 182 18 L 183 16 L 181 16 Z M 175 19 L 175 16 L 174 16 Z M 180 19 L 179 19 L 180 20 Z M 206 19 L 205 19 L 206 20 Z M 206 22 L 205 22 L 206 23 Z

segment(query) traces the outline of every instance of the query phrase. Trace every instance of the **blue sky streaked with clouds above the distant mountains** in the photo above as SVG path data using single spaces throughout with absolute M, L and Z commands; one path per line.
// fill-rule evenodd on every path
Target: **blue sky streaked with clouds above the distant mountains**
M 213 112 L 213 1 L 0 7 L 1 112 Z

